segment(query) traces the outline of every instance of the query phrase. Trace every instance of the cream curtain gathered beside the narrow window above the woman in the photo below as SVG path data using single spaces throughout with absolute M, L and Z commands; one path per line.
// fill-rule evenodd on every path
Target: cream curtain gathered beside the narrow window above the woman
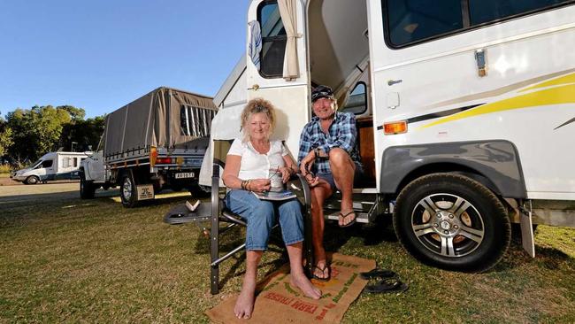
M 302 36 L 297 34 L 295 0 L 278 0 L 278 5 L 280 7 L 281 20 L 288 36 L 286 56 L 283 62 L 283 78 L 286 81 L 295 81 L 300 76 L 300 69 L 297 63 L 296 38 Z

